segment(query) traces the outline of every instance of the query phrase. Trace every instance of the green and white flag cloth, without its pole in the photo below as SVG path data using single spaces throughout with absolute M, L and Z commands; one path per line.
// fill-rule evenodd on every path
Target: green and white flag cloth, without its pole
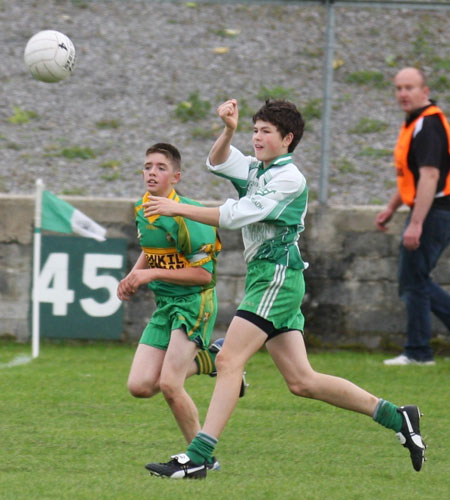
M 42 193 L 42 229 L 105 241 L 106 229 L 49 191 Z

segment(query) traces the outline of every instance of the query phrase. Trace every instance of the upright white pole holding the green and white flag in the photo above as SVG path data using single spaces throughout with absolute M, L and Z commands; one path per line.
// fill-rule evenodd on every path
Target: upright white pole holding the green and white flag
M 39 272 L 41 267 L 41 223 L 42 223 L 42 192 L 44 183 L 42 179 L 36 180 L 36 197 L 34 206 L 34 235 L 33 235 L 33 311 L 32 311 L 32 357 L 39 356 Z

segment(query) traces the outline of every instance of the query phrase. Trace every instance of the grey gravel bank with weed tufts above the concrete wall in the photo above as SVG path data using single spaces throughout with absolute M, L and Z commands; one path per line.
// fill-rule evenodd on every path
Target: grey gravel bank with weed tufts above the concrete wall
M 229 183 L 205 173 L 221 128 L 215 109 L 228 97 L 245 105 L 235 144 L 250 153 L 251 112 L 269 90 L 308 117 L 295 158 L 314 199 L 324 26 L 319 6 L 0 0 L 0 192 L 32 193 L 41 177 L 59 194 L 135 198 L 145 149 L 168 141 L 184 158 L 183 194 L 234 196 Z M 390 196 L 403 118 L 391 84 L 399 68 L 421 65 L 449 111 L 449 28 L 448 11 L 336 9 L 330 204 L 379 204 Z M 27 40 L 43 29 L 75 44 L 77 65 L 66 81 L 35 81 L 24 66 Z M 365 83 L 349 81 L 363 71 L 372 72 Z M 193 93 L 210 110 L 183 122 L 176 110 Z M 18 110 L 36 116 L 12 123 Z M 64 156 L 75 148 L 93 157 Z

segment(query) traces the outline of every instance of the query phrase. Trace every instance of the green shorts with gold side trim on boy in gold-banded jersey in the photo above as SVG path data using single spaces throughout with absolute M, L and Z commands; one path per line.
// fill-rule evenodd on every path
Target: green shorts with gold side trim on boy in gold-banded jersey
M 200 349 L 207 349 L 217 317 L 215 288 L 178 297 L 157 296 L 156 310 L 142 332 L 141 344 L 167 350 L 173 330 L 182 329 Z

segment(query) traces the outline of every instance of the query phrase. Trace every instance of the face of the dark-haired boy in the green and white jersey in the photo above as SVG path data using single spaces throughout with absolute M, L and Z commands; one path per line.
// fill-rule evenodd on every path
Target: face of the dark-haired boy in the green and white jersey
M 264 167 L 269 166 L 277 156 L 288 152 L 292 138 L 291 132 L 285 137 L 281 137 L 275 125 L 270 122 L 256 120 L 252 137 L 256 158 L 263 162 Z

